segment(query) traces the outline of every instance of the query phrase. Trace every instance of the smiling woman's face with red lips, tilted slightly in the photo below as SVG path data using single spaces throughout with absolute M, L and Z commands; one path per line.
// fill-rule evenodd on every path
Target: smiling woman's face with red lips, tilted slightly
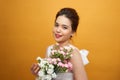
M 53 36 L 56 42 L 64 43 L 72 36 L 71 21 L 65 15 L 58 16 L 53 28 Z

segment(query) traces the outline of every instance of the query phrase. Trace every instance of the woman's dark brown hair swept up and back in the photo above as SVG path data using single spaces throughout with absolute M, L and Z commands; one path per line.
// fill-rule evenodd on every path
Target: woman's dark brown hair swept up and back
M 76 10 L 73 8 L 62 8 L 56 14 L 56 19 L 58 16 L 62 16 L 62 15 L 65 15 L 68 19 L 70 19 L 70 21 L 72 22 L 72 31 L 76 32 L 78 24 L 79 24 L 79 16 Z

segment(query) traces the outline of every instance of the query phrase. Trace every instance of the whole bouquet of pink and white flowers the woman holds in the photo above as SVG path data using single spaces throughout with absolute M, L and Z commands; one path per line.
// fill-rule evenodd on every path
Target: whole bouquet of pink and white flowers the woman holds
M 51 80 L 57 77 L 57 73 L 69 72 L 72 70 L 70 58 L 73 49 L 70 46 L 59 47 L 53 46 L 49 58 L 37 58 L 40 71 L 38 80 Z

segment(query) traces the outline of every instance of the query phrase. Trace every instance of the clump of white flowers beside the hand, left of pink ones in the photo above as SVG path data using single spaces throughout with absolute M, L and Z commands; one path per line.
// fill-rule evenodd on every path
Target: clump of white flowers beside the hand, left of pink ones
M 38 60 L 38 65 L 41 68 L 40 71 L 38 72 L 38 76 L 39 76 L 38 80 L 52 80 L 52 78 L 55 77 L 55 74 L 52 75 L 54 72 L 54 65 L 49 63 L 47 59 L 42 59 L 38 57 L 37 60 Z

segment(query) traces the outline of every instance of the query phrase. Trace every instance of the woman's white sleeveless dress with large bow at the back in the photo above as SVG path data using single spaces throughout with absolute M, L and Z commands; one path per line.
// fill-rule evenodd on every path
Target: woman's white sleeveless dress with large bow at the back
M 76 48 L 73 45 L 70 45 L 73 49 Z M 53 48 L 53 45 L 49 46 L 47 49 L 47 56 L 50 55 L 51 49 Z M 76 48 L 77 49 L 77 48 Z M 82 57 L 83 64 L 86 65 L 89 63 L 87 59 L 88 51 L 86 49 L 81 49 L 80 54 Z M 73 73 L 72 72 L 66 72 L 66 73 L 58 73 L 57 78 L 52 80 L 73 80 Z

